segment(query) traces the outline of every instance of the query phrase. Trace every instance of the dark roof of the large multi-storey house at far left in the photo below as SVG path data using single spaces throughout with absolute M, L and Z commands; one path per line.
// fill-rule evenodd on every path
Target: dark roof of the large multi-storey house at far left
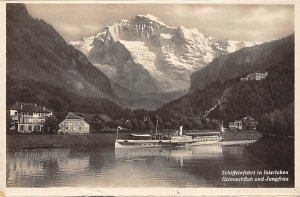
M 38 106 L 32 103 L 19 103 L 17 102 L 10 107 L 10 110 L 17 110 L 20 112 L 34 112 L 34 113 L 50 113 L 52 110 L 46 108 L 45 106 Z

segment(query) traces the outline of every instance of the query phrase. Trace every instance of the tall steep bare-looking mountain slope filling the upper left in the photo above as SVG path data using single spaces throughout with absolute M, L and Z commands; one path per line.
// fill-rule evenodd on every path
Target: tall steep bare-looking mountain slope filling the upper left
M 106 75 L 82 52 L 68 45 L 51 25 L 30 16 L 24 4 L 6 6 L 6 76 L 11 83 L 25 80 L 48 83 L 79 97 L 108 99 L 122 106 Z M 25 88 L 16 87 L 18 91 Z

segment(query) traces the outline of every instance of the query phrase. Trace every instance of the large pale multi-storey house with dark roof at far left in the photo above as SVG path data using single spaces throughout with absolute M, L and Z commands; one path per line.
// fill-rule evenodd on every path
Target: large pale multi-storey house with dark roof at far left
M 10 107 L 9 114 L 18 132 L 42 132 L 45 119 L 52 116 L 52 110 L 37 104 L 17 102 Z

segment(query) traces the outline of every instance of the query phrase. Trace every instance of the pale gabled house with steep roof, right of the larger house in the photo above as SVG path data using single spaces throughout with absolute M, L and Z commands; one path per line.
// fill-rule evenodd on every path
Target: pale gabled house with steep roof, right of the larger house
M 66 118 L 59 124 L 59 133 L 82 134 L 89 133 L 90 125 L 83 117 L 69 112 Z

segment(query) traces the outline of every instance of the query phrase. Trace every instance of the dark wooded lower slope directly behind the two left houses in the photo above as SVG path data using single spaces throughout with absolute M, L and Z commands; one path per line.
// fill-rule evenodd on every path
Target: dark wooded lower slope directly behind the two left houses
M 81 97 L 71 91 L 33 80 L 15 81 L 7 78 L 7 105 L 17 101 L 38 103 L 55 112 L 104 113 L 112 118 L 127 117 L 128 111 L 111 101 L 93 97 Z

